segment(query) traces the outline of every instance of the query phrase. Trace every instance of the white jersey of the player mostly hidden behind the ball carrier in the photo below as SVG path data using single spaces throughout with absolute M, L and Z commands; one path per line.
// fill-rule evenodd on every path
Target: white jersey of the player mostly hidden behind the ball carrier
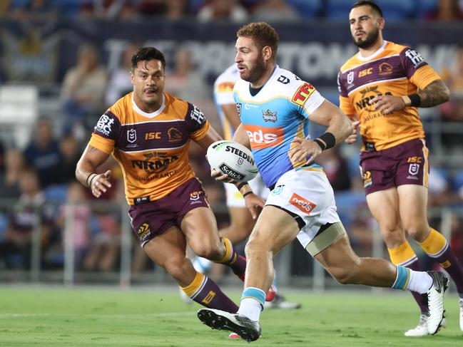
M 220 123 L 223 128 L 223 138 L 225 140 L 231 140 L 233 138 L 235 129 L 233 129 L 230 122 L 228 122 L 220 106 L 235 103 L 235 99 L 233 98 L 233 87 L 239 79 L 240 73 L 238 72 L 236 64 L 233 64 L 223 71 L 214 83 L 214 100 L 215 105 L 217 105 Z

